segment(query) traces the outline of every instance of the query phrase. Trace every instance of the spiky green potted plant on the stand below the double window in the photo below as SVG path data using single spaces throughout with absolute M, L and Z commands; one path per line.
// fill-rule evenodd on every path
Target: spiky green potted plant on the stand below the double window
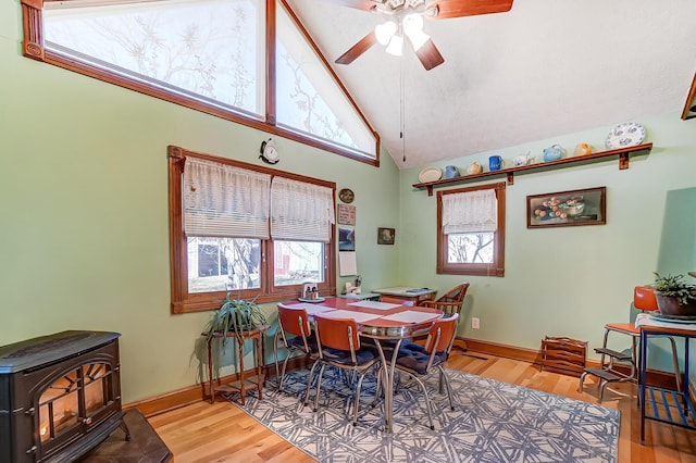
M 256 300 L 257 298 L 250 301 L 231 299 L 229 292 L 227 292 L 223 304 L 206 325 L 207 340 L 210 341 L 212 338 L 220 336 L 224 345 L 227 341 L 227 333 L 229 331 L 234 331 L 237 338 L 241 340 L 246 337 L 245 334 L 250 330 L 268 328 L 268 321 L 259 305 L 256 304 Z

